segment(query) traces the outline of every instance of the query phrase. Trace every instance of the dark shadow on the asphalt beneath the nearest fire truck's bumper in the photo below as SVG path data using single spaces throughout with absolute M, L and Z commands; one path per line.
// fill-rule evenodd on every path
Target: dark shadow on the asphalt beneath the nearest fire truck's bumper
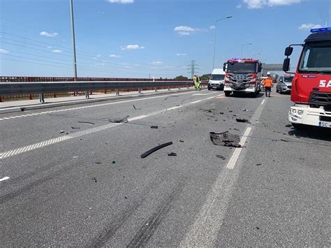
M 331 141 L 331 129 L 320 128 L 318 126 L 304 126 L 300 129 L 294 129 L 292 127 L 292 129 L 288 131 L 288 134 L 302 138 Z

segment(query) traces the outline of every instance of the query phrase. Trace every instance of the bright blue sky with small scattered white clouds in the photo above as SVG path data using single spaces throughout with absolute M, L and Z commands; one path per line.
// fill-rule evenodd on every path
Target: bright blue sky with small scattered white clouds
M 78 76 L 173 78 L 228 58 L 281 63 L 309 27 L 331 26 L 331 0 L 73 0 Z M 68 0 L 0 0 L 0 75 L 72 76 Z M 298 50 L 298 49 L 297 49 Z M 298 52 L 298 51 L 297 51 Z M 294 57 L 297 57 L 297 52 Z M 295 60 L 295 59 L 294 59 Z M 295 64 L 293 60 L 292 64 Z

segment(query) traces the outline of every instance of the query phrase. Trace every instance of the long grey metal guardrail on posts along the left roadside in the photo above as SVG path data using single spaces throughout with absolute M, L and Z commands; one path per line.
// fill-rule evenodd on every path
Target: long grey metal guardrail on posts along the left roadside
M 95 90 L 115 89 L 119 95 L 119 89 L 138 89 L 158 87 L 189 87 L 192 81 L 72 81 L 72 82 L 0 82 L 0 96 L 39 94 L 39 101 L 45 102 L 45 93 L 57 92 L 85 92 L 89 99 L 89 92 Z

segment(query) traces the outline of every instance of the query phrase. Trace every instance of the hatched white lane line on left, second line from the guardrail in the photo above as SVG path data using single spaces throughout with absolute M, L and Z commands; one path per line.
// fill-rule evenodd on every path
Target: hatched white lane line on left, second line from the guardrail
M 203 99 L 203 100 L 193 101 L 191 103 L 185 103 L 185 104 L 182 104 L 182 105 L 177 105 L 177 106 L 174 106 L 172 108 L 166 108 L 166 109 L 163 109 L 163 110 L 158 110 L 158 111 L 155 111 L 155 112 L 151 112 L 147 115 L 140 115 L 140 116 L 137 116 L 137 117 L 131 117 L 131 118 L 128 118 L 128 122 L 133 122 L 133 121 L 138 120 L 138 119 L 143 119 L 143 118 L 146 118 L 146 117 L 159 115 L 163 112 L 176 110 L 178 108 L 183 108 L 185 106 L 195 104 L 195 103 L 200 103 L 201 101 L 206 101 L 206 100 L 208 100 L 208 99 Z M 58 137 L 58 138 L 53 138 L 51 140 L 45 140 L 41 143 L 36 143 L 36 144 L 33 144 L 33 145 L 27 145 L 25 147 L 12 149 L 10 151 L 0 153 L 0 159 L 6 159 L 10 156 L 15 156 L 15 155 L 18 155 L 18 154 L 22 154 L 24 152 L 30 152 L 34 149 L 38 149 L 38 148 L 41 148 L 41 147 L 46 147 L 48 145 L 53 145 L 55 143 L 59 143 L 59 142 L 65 141 L 65 140 L 70 140 L 71 138 L 78 138 L 80 136 L 85 136 L 85 135 L 88 135 L 88 134 L 91 134 L 91 133 L 96 133 L 98 131 L 103 131 L 105 129 L 110 129 L 110 128 L 113 128 L 115 126 L 119 126 L 119 125 L 122 125 L 122 124 L 123 123 L 111 123 L 111 124 L 106 124 L 106 125 L 103 125 L 103 126 L 97 126 L 93 129 L 87 129 L 87 130 L 84 130 L 84 131 L 71 133 L 71 135 L 61 136 L 61 137 Z

